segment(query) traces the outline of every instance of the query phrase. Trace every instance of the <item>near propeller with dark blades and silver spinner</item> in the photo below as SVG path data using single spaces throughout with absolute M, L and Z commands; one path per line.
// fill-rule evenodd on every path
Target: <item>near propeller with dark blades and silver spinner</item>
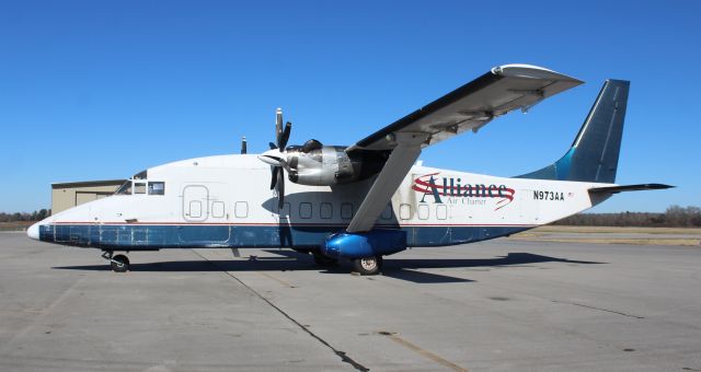
M 285 160 L 285 147 L 289 140 L 292 124 L 287 121 L 283 127 L 283 109 L 275 113 L 275 142 L 269 142 L 271 150 L 258 156 L 262 161 L 271 164 L 271 189 L 277 193 L 277 208 L 283 209 L 285 202 L 285 171 L 289 171 L 289 165 Z M 275 151 L 277 150 L 277 151 Z

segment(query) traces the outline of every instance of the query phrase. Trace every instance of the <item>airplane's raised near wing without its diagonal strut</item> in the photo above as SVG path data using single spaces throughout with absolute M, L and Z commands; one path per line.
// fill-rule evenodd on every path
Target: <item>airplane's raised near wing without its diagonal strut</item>
M 346 151 L 391 150 L 395 143 L 387 136 L 395 132 L 428 133 L 428 139 L 422 144 L 425 148 L 467 130 L 476 131 L 497 116 L 519 108 L 527 111 L 542 100 L 582 83 L 577 79 L 537 66 L 495 67 L 482 77 L 361 139 Z

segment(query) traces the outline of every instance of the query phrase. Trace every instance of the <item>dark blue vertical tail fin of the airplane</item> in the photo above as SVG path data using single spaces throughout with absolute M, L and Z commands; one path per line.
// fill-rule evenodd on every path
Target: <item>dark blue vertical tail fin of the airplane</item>
M 613 183 L 630 82 L 607 80 L 572 148 L 560 160 L 517 178 Z

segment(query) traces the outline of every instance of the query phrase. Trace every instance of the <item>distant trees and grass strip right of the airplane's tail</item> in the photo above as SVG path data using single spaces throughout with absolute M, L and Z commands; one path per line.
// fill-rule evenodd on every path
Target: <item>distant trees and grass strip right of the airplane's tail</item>
M 701 208 L 671 206 L 664 213 L 578 213 L 552 224 L 572 226 L 701 228 Z

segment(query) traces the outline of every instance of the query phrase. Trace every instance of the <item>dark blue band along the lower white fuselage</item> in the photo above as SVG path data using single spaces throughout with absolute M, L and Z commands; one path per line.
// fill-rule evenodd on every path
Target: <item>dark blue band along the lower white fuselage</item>
M 473 243 L 531 229 L 530 225 L 402 226 L 409 246 Z M 391 228 L 390 228 L 391 229 Z M 400 229 L 395 226 L 394 229 Z M 73 246 L 115 251 L 191 247 L 319 248 L 338 225 L 203 225 L 203 224 L 48 224 L 39 240 Z

